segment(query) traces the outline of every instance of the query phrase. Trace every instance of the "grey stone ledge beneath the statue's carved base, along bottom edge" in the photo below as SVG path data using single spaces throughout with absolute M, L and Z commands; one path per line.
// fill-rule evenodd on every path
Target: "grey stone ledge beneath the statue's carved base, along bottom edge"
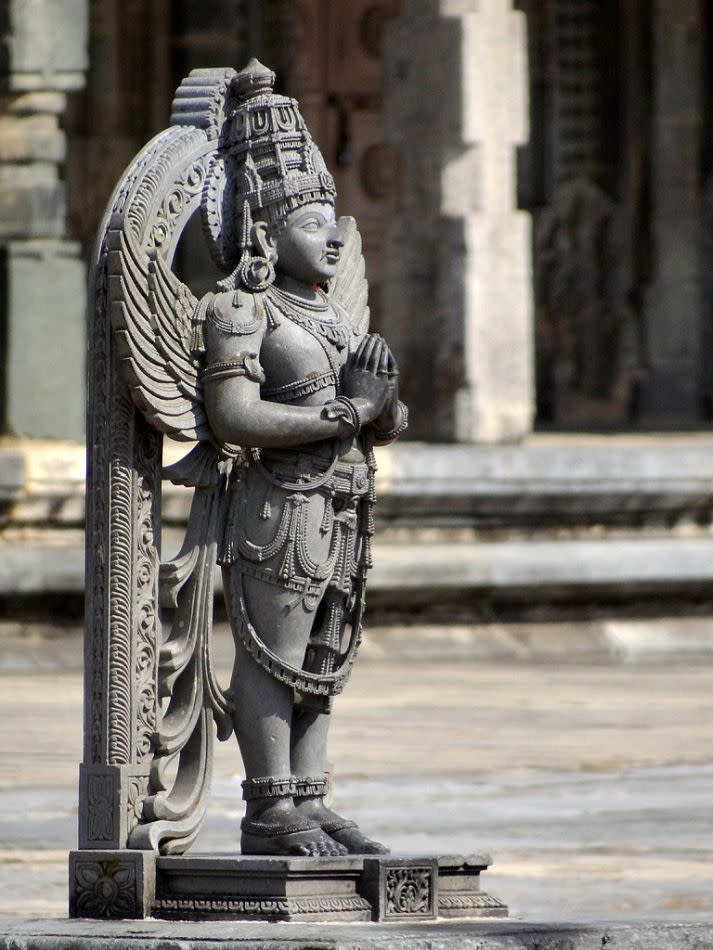
M 713 950 L 713 920 L 697 923 L 478 921 L 410 924 L 190 923 L 145 920 L 0 921 L 0 950 Z

